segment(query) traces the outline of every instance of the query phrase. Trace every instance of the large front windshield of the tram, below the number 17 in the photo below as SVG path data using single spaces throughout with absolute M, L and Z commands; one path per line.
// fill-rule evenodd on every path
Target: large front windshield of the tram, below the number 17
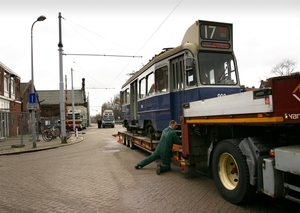
M 237 84 L 236 66 L 232 54 L 198 54 L 200 82 L 206 84 Z

